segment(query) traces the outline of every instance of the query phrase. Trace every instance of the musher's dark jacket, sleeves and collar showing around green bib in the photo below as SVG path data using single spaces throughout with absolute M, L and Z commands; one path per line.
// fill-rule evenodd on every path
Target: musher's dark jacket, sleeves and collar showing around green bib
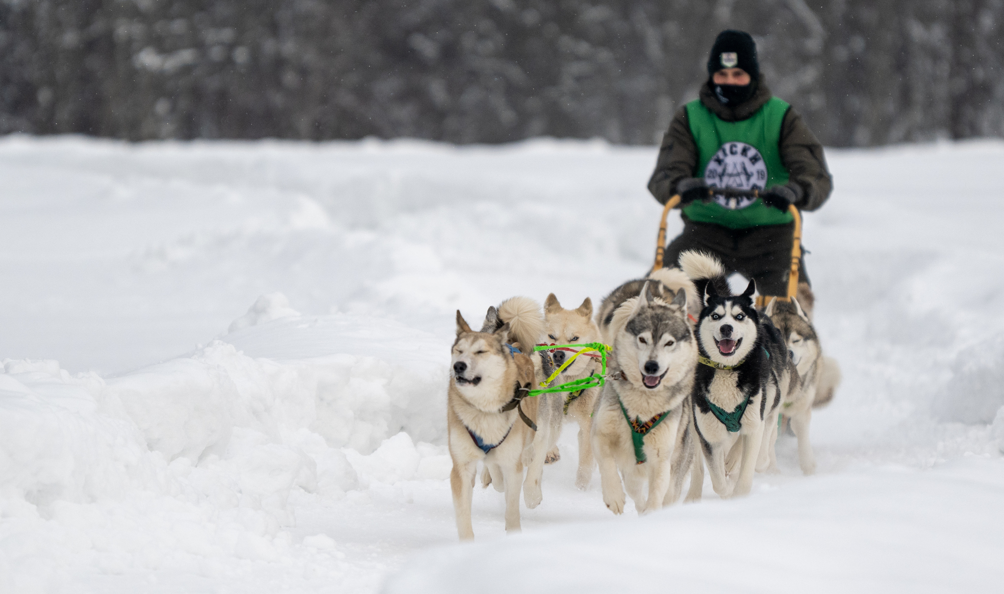
M 701 87 L 701 103 L 725 121 L 740 121 L 752 116 L 770 100 L 772 93 L 763 82 L 757 82 L 756 91 L 748 100 L 735 106 L 723 105 L 712 89 L 711 82 Z M 798 195 L 795 206 L 803 211 L 814 211 L 829 198 L 832 178 L 826 168 L 822 145 L 808 128 L 802 116 L 789 107 L 781 122 L 779 141 L 781 161 L 788 170 L 788 184 Z M 656 171 L 649 181 L 649 192 L 661 204 L 676 194 L 677 184 L 697 174 L 698 148 L 691 134 L 686 106 L 677 110 L 670 129 L 663 135 Z M 799 192 L 800 191 L 800 192 Z

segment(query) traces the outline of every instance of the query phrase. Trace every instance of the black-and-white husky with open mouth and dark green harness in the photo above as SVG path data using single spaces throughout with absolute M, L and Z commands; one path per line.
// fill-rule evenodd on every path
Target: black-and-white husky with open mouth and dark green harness
M 801 379 L 781 333 L 753 306 L 755 281 L 733 295 L 713 256 L 684 252 L 680 265 L 704 296 L 696 332 L 701 364 L 692 394 L 695 432 L 715 493 L 747 495 L 758 462 L 769 460 L 771 426 L 776 427 L 782 398 L 793 399 Z M 738 477 L 727 477 L 727 457 L 728 470 L 739 465 Z M 699 459 L 688 501 L 700 499 L 703 484 Z

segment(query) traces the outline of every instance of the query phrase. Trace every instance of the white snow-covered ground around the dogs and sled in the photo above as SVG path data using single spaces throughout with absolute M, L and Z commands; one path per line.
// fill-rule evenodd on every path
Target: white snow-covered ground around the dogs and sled
M 460 546 L 453 312 L 644 273 L 653 148 L 0 139 L 0 592 L 999 591 L 1004 142 L 828 158 L 818 474 L 614 518 L 568 426 Z

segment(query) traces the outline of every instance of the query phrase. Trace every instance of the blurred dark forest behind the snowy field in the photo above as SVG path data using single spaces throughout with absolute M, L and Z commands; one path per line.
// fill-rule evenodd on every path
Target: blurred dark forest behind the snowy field
M 0 0 L 0 133 L 658 141 L 715 35 L 831 146 L 1004 135 L 1004 0 Z

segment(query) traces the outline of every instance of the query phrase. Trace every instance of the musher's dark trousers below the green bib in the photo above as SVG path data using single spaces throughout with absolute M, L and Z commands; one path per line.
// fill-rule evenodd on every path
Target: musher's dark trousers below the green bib
M 788 293 L 794 230 L 794 223 L 729 229 L 696 223 L 685 216 L 684 231 L 666 247 L 663 262 L 666 266 L 677 266 L 681 253 L 701 250 L 717 256 L 729 274 L 738 272 L 755 280 L 761 295 L 784 296 Z M 799 263 L 798 282 L 809 282 L 804 257 Z

